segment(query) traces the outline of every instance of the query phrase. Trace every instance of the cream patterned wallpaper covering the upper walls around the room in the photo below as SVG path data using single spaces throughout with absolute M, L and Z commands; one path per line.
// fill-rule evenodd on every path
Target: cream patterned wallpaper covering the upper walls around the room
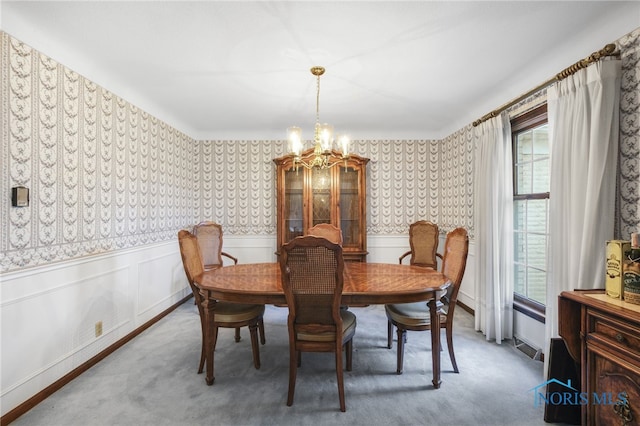
M 640 225 L 640 29 L 623 51 L 618 236 Z M 199 220 L 228 235 L 275 235 L 275 166 L 284 141 L 195 141 L 0 32 L 2 271 L 175 238 Z M 418 219 L 473 238 L 473 127 L 437 140 L 364 140 L 367 231 Z

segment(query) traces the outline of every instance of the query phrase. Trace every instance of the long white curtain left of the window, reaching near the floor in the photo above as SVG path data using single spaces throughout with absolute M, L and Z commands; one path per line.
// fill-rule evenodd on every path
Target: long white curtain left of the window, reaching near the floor
M 476 127 L 475 327 L 501 343 L 513 335 L 513 180 L 506 112 Z

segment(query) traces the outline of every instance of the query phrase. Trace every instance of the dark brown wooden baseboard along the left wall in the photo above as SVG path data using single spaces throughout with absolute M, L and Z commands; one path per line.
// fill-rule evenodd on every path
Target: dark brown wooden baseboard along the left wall
M 27 411 L 31 410 L 33 407 L 35 407 L 36 405 L 38 405 L 39 403 L 47 399 L 49 396 L 53 395 L 56 391 L 60 390 L 64 385 L 66 385 L 67 383 L 70 383 L 73 379 L 80 376 L 82 373 L 84 373 L 85 371 L 87 371 L 88 369 L 90 369 L 91 367 L 93 367 L 103 359 L 105 359 L 107 356 L 109 356 L 110 354 L 112 354 L 122 346 L 124 346 L 127 342 L 129 342 L 134 337 L 136 337 L 137 335 L 139 335 L 140 333 L 142 333 L 143 331 L 151 327 L 156 322 L 160 321 L 162 318 L 164 318 L 165 316 L 173 312 L 178 306 L 180 306 L 181 304 L 183 304 L 184 302 L 186 302 L 192 297 L 193 297 L 193 294 L 190 293 L 188 296 L 178 301 L 174 305 L 170 306 L 169 308 L 165 309 L 164 311 L 160 312 L 158 315 L 156 315 L 155 317 L 153 317 L 152 319 L 150 319 L 140 327 L 136 328 L 131 333 L 124 336 L 122 339 L 113 343 L 111 346 L 107 347 L 105 350 L 103 350 L 99 354 L 95 355 L 91 359 L 82 363 L 81 365 L 74 368 L 69 373 L 65 374 L 60 379 L 56 380 L 55 382 L 53 382 L 52 384 L 50 384 L 49 386 L 47 386 L 46 388 L 44 388 L 43 390 L 41 390 L 40 392 L 32 396 L 31 398 L 27 399 L 25 402 L 18 405 L 13 410 L 7 412 L 7 414 L 0 417 L 0 426 L 10 424 L 14 420 L 16 420 L 18 417 L 20 417 Z

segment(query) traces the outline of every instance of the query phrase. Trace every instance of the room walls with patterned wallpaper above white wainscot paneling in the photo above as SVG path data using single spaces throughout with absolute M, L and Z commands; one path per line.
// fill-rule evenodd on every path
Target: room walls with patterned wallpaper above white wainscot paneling
M 188 294 L 178 229 L 213 219 L 241 262 L 274 260 L 271 160 L 285 148 L 194 141 L 0 34 L 0 193 L 31 189 L 28 208 L 0 205 L 5 414 Z M 623 238 L 640 224 L 639 37 L 636 30 L 619 41 Z M 473 238 L 471 125 L 442 141 L 357 141 L 355 152 L 371 159 L 369 261 L 397 262 L 417 219 L 443 231 L 465 226 Z M 473 243 L 470 250 L 460 300 L 473 307 Z M 525 322 L 516 319 L 516 330 Z

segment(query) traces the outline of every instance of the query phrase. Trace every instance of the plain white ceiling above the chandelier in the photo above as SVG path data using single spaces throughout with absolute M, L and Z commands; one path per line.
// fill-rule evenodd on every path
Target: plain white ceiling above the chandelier
M 0 25 L 195 139 L 440 139 L 640 27 L 617 1 L 12 1 Z

